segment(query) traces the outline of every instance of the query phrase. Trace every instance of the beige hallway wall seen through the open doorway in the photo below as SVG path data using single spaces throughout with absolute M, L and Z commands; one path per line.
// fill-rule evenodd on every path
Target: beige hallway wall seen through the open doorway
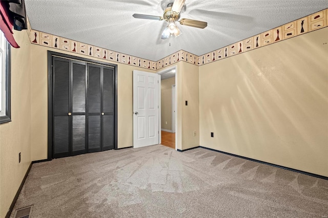
M 175 77 L 161 80 L 160 105 L 161 105 L 161 128 L 172 130 L 172 85 Z M 167 124 L 166 124 L 167 122 Z

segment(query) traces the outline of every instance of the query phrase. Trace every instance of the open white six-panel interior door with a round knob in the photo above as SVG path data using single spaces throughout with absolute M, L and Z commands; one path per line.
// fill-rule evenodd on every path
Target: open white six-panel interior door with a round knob
M 158 78 L 133 71 L 133 147 L 158 144 Z

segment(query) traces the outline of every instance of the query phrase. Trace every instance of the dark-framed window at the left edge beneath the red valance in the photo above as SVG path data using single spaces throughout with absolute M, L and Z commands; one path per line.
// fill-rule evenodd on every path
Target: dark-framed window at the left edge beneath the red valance
M 0 124 L 10 122 L 10 45 L 0 32 Z

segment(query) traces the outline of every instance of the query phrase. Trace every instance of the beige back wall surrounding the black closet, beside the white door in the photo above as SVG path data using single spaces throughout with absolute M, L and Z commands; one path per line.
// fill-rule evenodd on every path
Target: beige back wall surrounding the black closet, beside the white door
M 94 60 L 97 58 L 86 57 L 84 55 L 71 52 L 59 51 L 56 49 L 31 45 L 31 64 L 32 64 L 32 160 L 47 159 L 47 129 L 48 129 L 48 60 L 47 51 L 84 57 Z M 106 63 L 110 61 L 104 60 Z M 114 62 L 112 62 L 114 63 Z M 129 147 L 133 145 L 133 117 L 132 117 L 132 71 L 141 69 L 127 64 L 117 64 L 117 116 L 118 116 L 118 139 L 117 147 Z

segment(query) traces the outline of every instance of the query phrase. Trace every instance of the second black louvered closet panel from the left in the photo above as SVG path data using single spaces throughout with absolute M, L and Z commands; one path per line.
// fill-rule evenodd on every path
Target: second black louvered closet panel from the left
M 86 150 L 86 63 L 72 61 L 72 154 Z

